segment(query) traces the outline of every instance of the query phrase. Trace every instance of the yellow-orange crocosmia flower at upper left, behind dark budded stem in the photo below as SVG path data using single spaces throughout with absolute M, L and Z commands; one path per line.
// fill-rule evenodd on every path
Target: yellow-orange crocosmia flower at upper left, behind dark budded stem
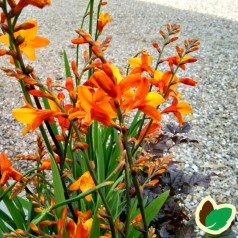
M 37 22 L 34 20 L 28 20 L 26 23 L 32 23 L 35 26 L 27 29 L 20 30 L 14 33 L 14 37 L 22 37 L 23 42 L 19 45 L 20 51 L 26 55 L 29 60 L 34 61 L 36 59 L 35 49 L 47 46 L 50 41 L 44 37 L 37 36 Z M 9 46 L 9 35 L 5 34 L 0 36 L 0 42 Z

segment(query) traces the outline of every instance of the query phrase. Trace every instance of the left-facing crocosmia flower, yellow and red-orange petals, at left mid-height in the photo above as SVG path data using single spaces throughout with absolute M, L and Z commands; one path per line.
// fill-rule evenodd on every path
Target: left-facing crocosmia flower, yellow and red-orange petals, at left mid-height
M 48 109 L 36 109 L 29 104 L 22 108 L 12 110 L 13 117 L 17 121 L 26 124 L 26 127 L 22 131 L 23 135 L 26 135 L 29 130 L 33 132 L 44 120 L 54 123 L 53 117 L 57 114 L 58 112 Z

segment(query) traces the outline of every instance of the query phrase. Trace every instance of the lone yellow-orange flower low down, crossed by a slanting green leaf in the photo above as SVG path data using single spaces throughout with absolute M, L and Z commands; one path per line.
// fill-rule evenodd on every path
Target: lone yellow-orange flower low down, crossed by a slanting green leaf
M 85 192 L 91 188 L 95 187 L 95 183 L 89 173 L 89 171 L 86 171 L 77 181 L 72 183 L 69 187 L 70 191 L 75 190 L 81 190 L 82 192 Z M 86 200 L 90 202 L 92 200 L 92 194 L 87 195 Z

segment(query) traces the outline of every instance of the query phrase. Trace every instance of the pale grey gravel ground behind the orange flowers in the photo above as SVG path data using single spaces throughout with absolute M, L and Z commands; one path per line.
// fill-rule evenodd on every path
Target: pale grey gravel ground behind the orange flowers
M 80 22 L 82 2 L 53 0 L 50 8 L 24 11 L 22 19 L 29 16 L 37 19 L 39 35 L 51 40 L 48 48 L 37 51 L 39 63 L 32 63 L 43 79 L 64 78 L 63 49 L 70 60 L 74 59 L 75 49 L 70 39 L 76 36 L 74 29 Z M 183 89 L 185 99 L 194 110 L 187 118 L 192 125 L 190 135 L 199 144 L 179 146 L 174 154 L 188 173 L 216 174 L 209 189 L 199 187 L 188 196 L 186 205 L 191 211 L 206 195 L 211 195 L 217 203 L 232 203 L 238 207 L 238 1 L 110 0 L 105 9 L 113 17 L 105 31 L 105 35 L 113 35 L 107 57 L 122 70 L 127 59 L 141 49 L 153 52 L 150 44 L 159 40 L 158 32 L 166 23 L 180 24 L 183 39 L 200 38 L 199 61 L 187 71 L 199 85 Z M 6 65 L 3 58 L 0 65 Z M 22 126 L 12 119 L 11 110 L 23 104 L 17 82 L 1 73 L 0 85 L 0 151 L 14 157 L 32 150 L 30 144 L 35 135 L 22 139 Z M 238 234 L 237 227 L 234 229 Z

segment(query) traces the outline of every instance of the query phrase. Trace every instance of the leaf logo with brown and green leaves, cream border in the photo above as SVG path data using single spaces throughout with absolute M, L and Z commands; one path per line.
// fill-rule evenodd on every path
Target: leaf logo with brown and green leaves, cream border
M 208 234 L 218 235 L 227 230 L 234 220 L 236 209 L 231 204 L 217 205 L 210 197 L 205 197 L 199 203 L 195 220 L 197 226 Z

